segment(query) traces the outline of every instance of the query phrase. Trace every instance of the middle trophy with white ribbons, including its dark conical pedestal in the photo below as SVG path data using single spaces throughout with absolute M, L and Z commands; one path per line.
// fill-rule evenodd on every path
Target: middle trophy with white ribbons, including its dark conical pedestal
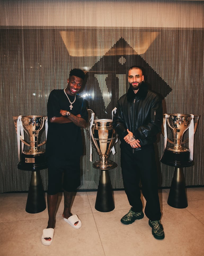
M 116 113 L 116 108 L 112 111 Z M 117 164 L 108 160 L 110 153 L 115 153 L 114 144 L 117 142 L 117 133 L 113 129 L 112 119 L 96 119 L 94 120 L 94 112 L 90 120 L 90 139 L 96 149 L 100 160 L 96 161 L 93 166 L 100 169 L 99 186 L 97 190 L 95 209 L 100 212 L 110 212 L 115 208 L 112 187 L 108 170 L 113 169 Z M 92 148 L 90 143 L 90 160 L 92 161 Z

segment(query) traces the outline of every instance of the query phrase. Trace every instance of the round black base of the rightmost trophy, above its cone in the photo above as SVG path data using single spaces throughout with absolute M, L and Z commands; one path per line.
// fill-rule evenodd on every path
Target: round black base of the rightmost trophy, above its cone
M 193 161 L 190 160 L 190 152 L 176 152 L 165 149 L 165 152 L 162 156 L 161 162 L 175 167 L 188 167 L 193 164 Z

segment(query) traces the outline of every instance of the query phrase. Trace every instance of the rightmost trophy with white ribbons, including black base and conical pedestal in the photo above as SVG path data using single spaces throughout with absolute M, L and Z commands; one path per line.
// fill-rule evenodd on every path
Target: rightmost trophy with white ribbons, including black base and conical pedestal
M 162 133 L 165 140 L 164 153 L 161 158 L 161 162 L 166 165 L 175 166 L 171 189 L 167 200 L 167 203 L 175 208 L 186 208 L 188 206 L 183 167 L 188 167 L 193 164 L 193 142 L 198 118 L 198 115 L 163 115 Z M 166 123 L 172 132 L 172 140 L 167 137 Z M 189 137 L 183 141 L 183 135 L 187 130 L 189 132 Z M 173 145 L 167 146 L 167 141 Z M 182 144 L 186 142 L 189 144 L 188 148 L 182 146 Z

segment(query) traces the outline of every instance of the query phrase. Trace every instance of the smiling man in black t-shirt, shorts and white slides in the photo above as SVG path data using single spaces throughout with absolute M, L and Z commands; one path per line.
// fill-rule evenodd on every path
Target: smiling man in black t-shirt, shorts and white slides
M 84 72 L 81 69 L 70 71 L 67 87 L 51 91 L 47 102 L 48 133 L 46 158 L 48 163 L 48 226 L 43 229 L 42 244 L 50 245 L 54 236 L 55 210 L 58 192 L 64 191 L 63 218 L 73 228 L 81 228 L 81 220 L 70 212 L 73 191 L 80 185 L 79 160 L 82 155 L 81 128 L 86 128 L 88 113 L 86 104 L 78 95 Z

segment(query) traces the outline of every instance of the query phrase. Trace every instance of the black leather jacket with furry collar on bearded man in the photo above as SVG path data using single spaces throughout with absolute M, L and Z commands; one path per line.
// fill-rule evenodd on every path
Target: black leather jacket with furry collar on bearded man
M 142 82 L 136 94 L 129 88 L 127 93 L 119 98 L 113 128 L 116 129 L 123 147 L 130 148 L 123 139 L 128 134 L 127 128 L 140 140 L 141 146 L 149 145 L 156 141 L 156 135 L 161 131 L 162 120 L 161 99 Z

